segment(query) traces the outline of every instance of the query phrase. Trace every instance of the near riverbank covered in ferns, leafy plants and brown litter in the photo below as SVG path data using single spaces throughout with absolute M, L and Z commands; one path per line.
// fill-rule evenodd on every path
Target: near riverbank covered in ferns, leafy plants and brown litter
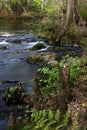
M 45 61 L 46 62 L 46 61 Z M 87 54 L 63 57 L 57 67 L 44 67 L 35 73 L 33 106 L 20 129 L 87 128 Z M 66 122 L 66 123 L 65 123 Z M 39 123 L 39 124 L 38 124 Z M 17 124 L 15 124 L 16 129 Z M 13 129 L 15 128 L 13 127 Z

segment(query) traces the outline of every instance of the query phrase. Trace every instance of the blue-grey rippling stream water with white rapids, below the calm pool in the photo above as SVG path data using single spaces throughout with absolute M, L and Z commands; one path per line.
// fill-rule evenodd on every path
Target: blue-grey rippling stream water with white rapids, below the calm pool
M 21 32 L 22 33 L 22 32 Z M 26 56 L 29 53 L 38 51 L 30 51 L 37 42 L 42 42 L 32 33 L 14 32 L 10 36 L 4 33 L 0 36 L 0 82 L 5 81 L 21 81 L 26 89 L 31 89 L 30 79 L 32 79 L 33 71 L 37 69 L 36 65 L 26 62 Z M 46 50 L 42 49 L 43 51 Z M 39 50 L 39 51 L 42 51 Z M 30 91 L 30 90 L 28 90 Z

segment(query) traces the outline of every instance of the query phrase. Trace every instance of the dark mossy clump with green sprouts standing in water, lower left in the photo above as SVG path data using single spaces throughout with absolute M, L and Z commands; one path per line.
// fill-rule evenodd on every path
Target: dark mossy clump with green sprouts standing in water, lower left
M 15 88 L 8 87 L 3 95 L 3 100 L 8 105 L 11 104 L 20 104 L 24 103 L 24 97 L 26 96 L 26 92 L 24 91 L 22 84 L 20 82 L 17 83 Z

